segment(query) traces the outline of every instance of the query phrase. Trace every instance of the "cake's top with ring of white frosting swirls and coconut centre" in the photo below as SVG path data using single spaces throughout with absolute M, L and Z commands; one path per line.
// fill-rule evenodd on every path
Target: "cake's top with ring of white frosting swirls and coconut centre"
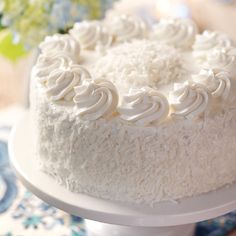
M 236 48 L 190 19 L 147 25 L 136 16 L 75 23 L 48 36 L 32 76 L 49 103 L 81 120 L 157 126 L 203 119 L 236 99 Z

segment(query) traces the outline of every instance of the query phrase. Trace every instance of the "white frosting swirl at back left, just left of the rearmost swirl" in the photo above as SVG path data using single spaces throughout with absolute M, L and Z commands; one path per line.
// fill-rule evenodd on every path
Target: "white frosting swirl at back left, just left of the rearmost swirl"
M 107 29 L 98 21 L 75 23 L 69 32 L 83 49 L 106 48 L 112 43 L 112 36 L 108 34 Z

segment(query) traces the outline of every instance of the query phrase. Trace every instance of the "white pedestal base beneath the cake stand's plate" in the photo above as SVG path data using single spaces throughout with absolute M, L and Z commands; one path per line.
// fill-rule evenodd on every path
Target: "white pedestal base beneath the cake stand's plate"
M 131 227 L 85 220 L 88 236 L 193 236 L 195 224 L 170 227 Z

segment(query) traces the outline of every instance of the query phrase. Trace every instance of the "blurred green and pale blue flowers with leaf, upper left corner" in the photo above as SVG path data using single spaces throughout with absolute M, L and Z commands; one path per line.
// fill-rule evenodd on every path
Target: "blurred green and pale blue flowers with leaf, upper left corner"
M 75 22 L 102 18 L 114 1 L 0 0 L 0 32 L 7 28 L 13 35 L 0 38 L 0 45 L 4 45 L 0 53 L 8 58 L 23 55 L 22 45 L 10 45 L 10 38 L 15 43 L 23 42 L 27 49 L 33 48 L 46 35 L 66 33 Z

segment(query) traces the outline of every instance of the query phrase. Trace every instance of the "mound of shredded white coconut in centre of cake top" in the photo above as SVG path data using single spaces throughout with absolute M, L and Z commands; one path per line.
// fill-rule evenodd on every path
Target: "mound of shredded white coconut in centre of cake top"
M 110 49 L 96 62 L 94 74 L 111 80 L 121 91 L 143 86 L 158 87 L 178 81 L 183 73 L 181 53 L 148 40 L 124 43 Z

